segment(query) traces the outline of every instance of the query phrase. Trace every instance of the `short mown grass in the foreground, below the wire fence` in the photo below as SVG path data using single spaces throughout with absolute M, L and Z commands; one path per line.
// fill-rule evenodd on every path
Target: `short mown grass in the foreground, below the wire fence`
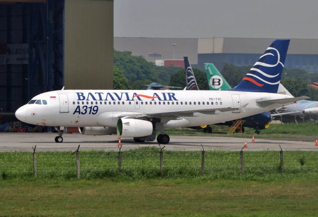
M 2 180 L 0 216 L 317 216 L 314 178 Z

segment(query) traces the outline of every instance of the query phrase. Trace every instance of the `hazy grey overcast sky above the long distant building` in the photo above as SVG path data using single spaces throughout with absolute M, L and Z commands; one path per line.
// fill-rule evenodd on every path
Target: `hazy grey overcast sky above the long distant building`
M 114 36 L 318 38 L 318 0 L 114 0 Z

